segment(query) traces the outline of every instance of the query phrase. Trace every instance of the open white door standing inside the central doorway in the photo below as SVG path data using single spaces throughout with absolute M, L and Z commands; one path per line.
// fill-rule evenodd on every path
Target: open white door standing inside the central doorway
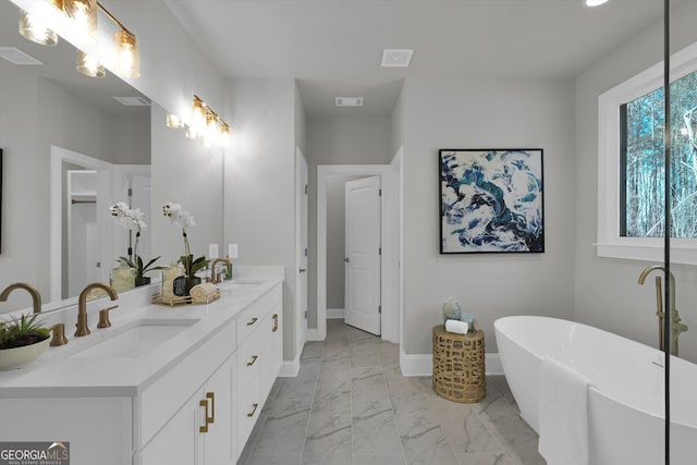
M 380 176 L 345 185 L 344 320 L 380 335 Z

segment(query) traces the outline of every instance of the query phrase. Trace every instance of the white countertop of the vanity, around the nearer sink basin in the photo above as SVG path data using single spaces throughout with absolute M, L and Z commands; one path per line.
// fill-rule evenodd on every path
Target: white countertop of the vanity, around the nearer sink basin
M 65 315 L 66 345 L 48 347 L 33 365 L 0 371 L 0 397 L 63 397 L 63 396 L 132 396 L 157 380 L 168 368 L 186 357 L 208 338 L 228 326 L 235 316 L 268 291 L 283 281 L 282 267 L 253 267 L 239 272 L 233 281 L 218 286 L 221 297 L 207 305 L 124 305 L 110 311 L 111 328 L 97 329 L 99 307 L 89 309 L 91 334 L 73 336 L 73 323 L 77 309 L 69 308 Z M 258 283 L 235 289 L 235 282 Z M 259 281 L 261 281 L 259 283 Z M 136 290 L 132 292 L 145 292 Z M 152 286 L 150 286 L 150 293 Z M 121 298 L 119 299 L 121 301 Z M 119 301 L 108 305 L 120 304 Z M 124 298 L 126 301 L 126 298 Z M 125 308 L 127 306 L 127 308 Z M 105 305 L 101 306 L 103 308 Z M 47 314 L 50 315 L 50 314 Z M 123 330 L 138 320 L 196 319 L 197 322 L 138 358 L 130 357 L 72 357 Z M 234 333 L 231 334 L 234 338 Z

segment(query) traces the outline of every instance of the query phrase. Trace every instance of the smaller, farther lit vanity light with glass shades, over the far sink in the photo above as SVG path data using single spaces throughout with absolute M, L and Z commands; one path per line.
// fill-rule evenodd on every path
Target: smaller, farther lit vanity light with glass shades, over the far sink
M 186 127 L 186 137 L 199 139 L 206 148 L 230 146 L 230 125 L 197 95 L 192 100 L 189 124 L 186 125 L 178 115 L 168 113 L 167 126 L 176 130 Z

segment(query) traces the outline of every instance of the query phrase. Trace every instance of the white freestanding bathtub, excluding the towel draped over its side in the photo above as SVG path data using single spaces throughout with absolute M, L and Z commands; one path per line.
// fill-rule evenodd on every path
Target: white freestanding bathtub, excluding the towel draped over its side
M 494 322 L 499 354 L 521 416 L 539 432 L 542 358 L 577 370 L 588 393 L 591 465 L 664 463 L 663 353 L 573 321 L 506 317 Z M 671 357 L 671 465 L 697 463 L 697 365 Z

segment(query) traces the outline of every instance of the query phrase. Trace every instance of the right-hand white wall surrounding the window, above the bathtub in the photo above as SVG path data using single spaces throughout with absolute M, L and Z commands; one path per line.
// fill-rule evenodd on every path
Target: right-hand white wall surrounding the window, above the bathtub
M 697 2 L 686 2 L 672 15 L 673 52 L 697 40 Z M 663 29 L 658 25 L 576 79 L 576 286 L 574 319 L 657 346 L 658 321 L 653 279 L 638 285 L 639 260 L 598 258 L 598 96 L 662 61 Z M 676 306 L 690 330 L 681 335 L 681 356 L 697 362 L 697 270 L 671 265 L 676 277 Z

